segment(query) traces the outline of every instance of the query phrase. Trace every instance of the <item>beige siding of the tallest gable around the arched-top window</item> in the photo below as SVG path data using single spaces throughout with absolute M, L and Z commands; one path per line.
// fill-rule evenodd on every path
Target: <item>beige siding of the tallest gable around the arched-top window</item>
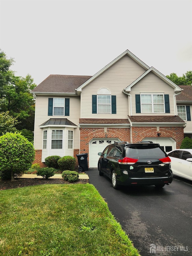
M 127 55 L 113 64 L 113 66 L 82 89 L 81 118 L 127 119 L 128 95 L 122 93 L 122 90 L 144 72 L 144 68 Z M 116 114 L 92 114 L 92 95 L 97 95 L 98 90 L 101 88 L 107 88 L 110 90 L 111 95 L 116 95 Z

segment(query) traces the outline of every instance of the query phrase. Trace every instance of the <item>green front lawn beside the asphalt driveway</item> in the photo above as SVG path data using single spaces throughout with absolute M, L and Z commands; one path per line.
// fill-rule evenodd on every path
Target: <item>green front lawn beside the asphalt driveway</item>
M 0 255 L 140 255 L 91 184 L 0 191 Z

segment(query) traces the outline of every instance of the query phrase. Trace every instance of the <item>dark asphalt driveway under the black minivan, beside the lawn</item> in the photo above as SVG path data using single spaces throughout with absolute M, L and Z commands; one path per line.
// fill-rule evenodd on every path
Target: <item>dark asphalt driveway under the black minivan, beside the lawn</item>
M 192 182 L 115 190 L 97 169 L 86 173 L 142 256 L 192 255 Z

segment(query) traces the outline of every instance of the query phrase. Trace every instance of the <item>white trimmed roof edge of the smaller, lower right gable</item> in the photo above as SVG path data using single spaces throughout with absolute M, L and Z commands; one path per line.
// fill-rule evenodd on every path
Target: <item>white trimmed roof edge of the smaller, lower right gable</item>
M 181 92 L 183 89 L 181 89 L 178 85 L 173 83 L 171 80 L 169 80 L 166 76 L 161 74 L 157 69 L 154 67 L 149 68 L 145 73 L 143 73 L 140 77 L 138 77 L 133 83 L 131 83 L 128 87 L 126 87 L 123 91 L 124 92 L 131 92 L 131 87 L 134 86 L 136 83 L 138 83 L 143 77 L 145 77 L 149 72 L 152 72 L 156 76 L 158 76 L 161 80 L 163 80 L 165 83 L 170 85 L 175 93 Z

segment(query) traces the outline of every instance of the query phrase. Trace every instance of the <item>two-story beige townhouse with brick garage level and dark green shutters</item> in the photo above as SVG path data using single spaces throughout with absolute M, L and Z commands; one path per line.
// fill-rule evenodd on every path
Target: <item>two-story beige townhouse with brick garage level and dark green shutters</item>
M 177 113 L 182 89 L 128 50 L 92 77 L 50 75 L 32 90 L 34 163 L 88 153 L 89 167 L 97 167 L 98 152 L 122 140 L 150 140 L 167 152 L 179 148 L 188 125 Z

